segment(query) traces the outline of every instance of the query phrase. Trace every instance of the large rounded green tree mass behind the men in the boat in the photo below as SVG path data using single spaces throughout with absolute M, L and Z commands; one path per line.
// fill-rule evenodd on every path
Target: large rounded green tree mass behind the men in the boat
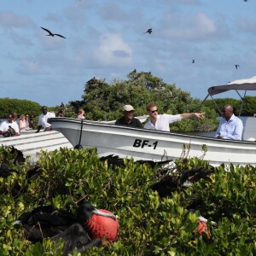
M 75 113 L 78 113 L 79 108 L 84 108 L 86 119 L 113 120 L 122 115 L 125 104 L 131 104 L 136 109 L 136 116 L 147 114 L 149 102 L 157 103 L 159 113 L 207 112 L 205 121 L 183 120 L 172 124 L 172 131 L 202 131 L 202 127 L 210 131 L 216 126 L 216 113 L 210 108 L 199 109 L 201 100 L 178 89 L 176 84 L 166 84 L 151 73 L 137 73 L 136 70 L 129 73 L 126 80 L 113 79 L 111 84 L 104 79 L 90 79 L 84 84 L 82 101 L 69 103 Z

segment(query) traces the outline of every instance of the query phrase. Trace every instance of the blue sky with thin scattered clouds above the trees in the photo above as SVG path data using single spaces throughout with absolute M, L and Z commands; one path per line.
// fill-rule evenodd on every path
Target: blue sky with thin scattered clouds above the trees
M 136 68 L 203 99 L 256 75 L 255 13 L 254 0 L 2 0 L 0 97 L 54 107 Z

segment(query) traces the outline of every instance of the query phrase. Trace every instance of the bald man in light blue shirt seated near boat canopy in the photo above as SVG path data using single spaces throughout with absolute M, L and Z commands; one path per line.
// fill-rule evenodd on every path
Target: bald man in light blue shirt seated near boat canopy
M 230 104 L 222 108 L 222 116 L 218 124 L 215 137 L 219 139 L 240 140 L 243 130 L 241 119 L 235 116 L 233 108 Z

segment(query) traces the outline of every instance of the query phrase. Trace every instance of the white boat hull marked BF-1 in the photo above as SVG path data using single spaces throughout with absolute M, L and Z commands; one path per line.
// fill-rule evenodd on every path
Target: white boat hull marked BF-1
M 80 144 L 84 148 L 97 148 L 100 155 L 115 154 L 135 160 L 175 160 L 188 154 L 189 158 L 208 160 L 212 166 L 223 163 L 256 166 L 256 143 L 252 142 L 127 128 L 69 118 L 53 118 L 49 122 L 55 131 L 67 137 L 73 147 Z M 205 155 L 203 145 L 207 145 Z M 186 152 L 184 147 L 187 148 Z

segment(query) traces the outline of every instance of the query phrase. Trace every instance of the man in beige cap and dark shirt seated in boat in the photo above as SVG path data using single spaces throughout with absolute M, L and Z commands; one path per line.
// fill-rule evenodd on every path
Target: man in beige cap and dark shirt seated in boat
M 143 128 L 139 119 L 133 117 L 134 108 L 131 105 L 125 105 L 123 108 L 124 116 L 115 121 L 115 125 L 122 125 L 134 128 Z

